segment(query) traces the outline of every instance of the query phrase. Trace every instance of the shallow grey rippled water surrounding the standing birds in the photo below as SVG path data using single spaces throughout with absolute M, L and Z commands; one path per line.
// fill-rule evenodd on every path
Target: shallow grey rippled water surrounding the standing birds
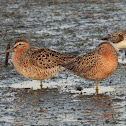
M 89 52 L 100 37 L 126 27 L 124 0 L 0 1 L 0 52 L 23 38 L 32 46 L 72 55 Z M 8 33 L 5 34 L 5 31 Z M 5 37 L 4 37 L 5 35 Z M 4 39 L 3 39 L 4 38 Z M 0 56 L 0 125 L 126 125 L 124 51 L 115 73 L 100 82 L 69 72 L 39 81 L 19 75 Z

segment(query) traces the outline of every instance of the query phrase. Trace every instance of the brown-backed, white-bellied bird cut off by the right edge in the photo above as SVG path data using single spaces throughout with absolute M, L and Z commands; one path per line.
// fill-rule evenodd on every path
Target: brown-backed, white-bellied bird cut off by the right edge
M 126 30 L 118 31 L 113 34 L 109 34 L 101 40 L 108 40 L 118 51 L 120 49 L 126 49 Z

